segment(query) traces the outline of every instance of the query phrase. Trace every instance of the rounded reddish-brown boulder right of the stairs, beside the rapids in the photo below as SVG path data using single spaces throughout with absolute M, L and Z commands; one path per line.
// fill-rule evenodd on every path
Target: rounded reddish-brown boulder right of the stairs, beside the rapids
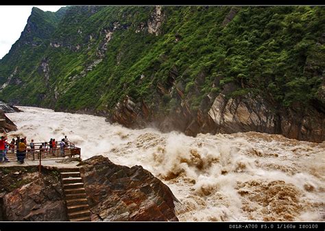
M 141 166 L 95 156 L 80 167 L 93 221 L 178 221 L 173 193 Z

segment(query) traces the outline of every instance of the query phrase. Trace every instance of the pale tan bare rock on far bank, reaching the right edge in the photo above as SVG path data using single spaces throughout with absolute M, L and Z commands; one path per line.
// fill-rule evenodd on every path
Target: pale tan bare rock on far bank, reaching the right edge
M 226 99 L 220 94 L 208 114 L 221 133 L 255 131 L 318 143 L 325 140 L 324 113 L 312 107 L 304 112 L 293 108 L 274 110 L 274 106 L 258 95 Z

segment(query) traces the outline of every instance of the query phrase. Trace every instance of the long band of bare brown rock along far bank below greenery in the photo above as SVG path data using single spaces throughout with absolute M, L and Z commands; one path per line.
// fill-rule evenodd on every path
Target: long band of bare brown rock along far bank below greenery
M 325 141 L 325 117 L 321 106 L 295 110 L 276 108 L 259 95 L 227 98 L 228 87 L 215 99 L 206 98 L 205 110 L 193 111 L 182 101 L 180 107 L 162 117 L 145 104 L 127 99 L 109 120 L 126 127 L 156 126 L 163 132 L 179 130 L 189 136 L 199 133 L 265 132 L 288 138 L 322 143 Z M 178 89 L 178 94 L 183 93 Z M 209 108 L 209 110 L 206 110 Z

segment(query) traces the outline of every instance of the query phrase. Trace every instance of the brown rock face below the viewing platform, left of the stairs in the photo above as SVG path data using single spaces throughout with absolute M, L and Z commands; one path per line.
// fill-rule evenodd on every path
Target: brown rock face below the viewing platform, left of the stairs
M 2 221 L 68 221 L 58 171 L 36 167 L 0 169 Z

